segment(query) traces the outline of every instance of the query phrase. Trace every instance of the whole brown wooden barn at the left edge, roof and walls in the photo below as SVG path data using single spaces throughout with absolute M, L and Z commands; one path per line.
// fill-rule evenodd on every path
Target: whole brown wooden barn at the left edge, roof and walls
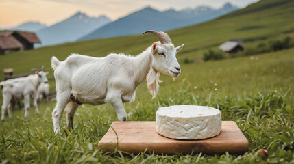
M 0 31 L 0 54 L 34 49 L 34 43 L 40 43 L 35 33 L 25 31 Z

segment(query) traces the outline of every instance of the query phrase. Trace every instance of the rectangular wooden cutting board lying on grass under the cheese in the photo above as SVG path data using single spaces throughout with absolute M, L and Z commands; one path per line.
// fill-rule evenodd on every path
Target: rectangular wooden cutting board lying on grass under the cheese
M 201 140 L 178 140 L 163 137 L 156 132 L 155 122 L 112 122 L 106 135 L 99 141 L 98 148 L 106 152 L 118 150 L 130 153 L 153 152 L 156 154 L 225 152 L 241 154 L 249 150 L 246 137 L 234 121 L 223 121 L 221 133 L 216 137 Z M 117 137 L 119 143 L 117 143 Z

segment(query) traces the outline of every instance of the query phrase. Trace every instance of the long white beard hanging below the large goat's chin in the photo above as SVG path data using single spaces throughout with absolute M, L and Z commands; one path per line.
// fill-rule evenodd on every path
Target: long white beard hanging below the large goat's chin
M 156 97 L 158 91 L 158 81 L 156 80 L 156 71 L 152 66 L 150 66 L 150 71 L 146 76 L 148 90 L 152 94 L 152 98 Z

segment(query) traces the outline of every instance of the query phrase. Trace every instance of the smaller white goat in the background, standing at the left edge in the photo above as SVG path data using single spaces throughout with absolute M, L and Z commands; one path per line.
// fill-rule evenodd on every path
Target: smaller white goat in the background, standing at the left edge
M 25 118 L 29 116 L 28 109 L 29 109 L 29 101 L 30 97 L 34 96 L 34 107 L 35 112 L 40 113 L 38 110 L 37 99 L 36 99 L 36 90 L 38 85 L 43 82 L 47 83 L 46 75 L 48 72 L 44 72 L 44 66 L 42 66 L 42 70 L 40 72 L 36 72 L 35 74 L 29 75 L 28 77 L 20 77 L 16 79 L 10 79 L 7 81 L 2 81 L 0 86 L 2 89 L 3 94 L 3 105 L 2 105 L 2 112 L 1 112 L 1 120 L 4 121 L 5 110 L 8 109 L 10 102 L 13 102 L 12 98 L 15 101 L 24 99 L 25 104 Z M 10 105 L 12 106 L 12 105 Z M 12 118 L 12 107 L 8 109 L 8 116 Z

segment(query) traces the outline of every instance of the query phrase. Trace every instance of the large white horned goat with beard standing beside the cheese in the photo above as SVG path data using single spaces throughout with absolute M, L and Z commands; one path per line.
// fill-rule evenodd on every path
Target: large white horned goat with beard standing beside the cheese
M 159 73 L 177 77 L 180 65 L 175 57 L 182 46 L 174 47 L 164 32 L 154 33 L 160 42 L 154 42 L 136 57 L 110 54 L 106 57 L 88 57 L 72 54 L 64 61 L 52 57 L 51 66 L 56 79 L 57 104 L 52 112 L 54 132 L 60 133 L 60 120 L 66 111 L 68 128 L 73 128 L 73 117 L 78 105 L 110 103 L 120 121 L 127 114 L 123 102 L 135 99 L 136 87 L 147 80 L 149 92 L 155 98 Z M 143 33 L 144 34 L 144 33 Z

